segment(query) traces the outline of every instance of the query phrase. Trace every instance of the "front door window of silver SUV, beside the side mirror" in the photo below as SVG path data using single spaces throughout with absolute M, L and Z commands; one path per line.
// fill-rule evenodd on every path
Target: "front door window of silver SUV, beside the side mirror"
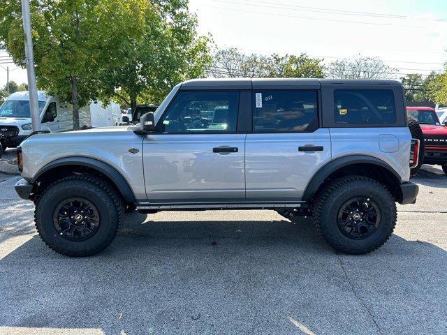
M 161 119 L 164 133 L 235 132 L 239 92 L 180 92 Z

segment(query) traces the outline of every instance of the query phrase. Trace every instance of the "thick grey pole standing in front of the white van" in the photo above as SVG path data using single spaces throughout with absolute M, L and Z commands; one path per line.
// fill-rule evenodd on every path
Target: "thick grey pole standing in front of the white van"
M 31 125 L 33 131 L 41 130 L 41 116 L 37 98 L 36 73 L 34 72 L 33 39 L 31 38 L 31 17 L 29 0 L 22 0 L 22 20 L 25 34 L 25 56 L 27 58 L 29 109 L 31 110 Z

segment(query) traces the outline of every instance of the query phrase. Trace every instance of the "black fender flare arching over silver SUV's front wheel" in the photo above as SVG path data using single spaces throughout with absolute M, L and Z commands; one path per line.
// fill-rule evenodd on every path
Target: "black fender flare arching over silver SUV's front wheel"
M 131 186 L 129 186 L 129 183 L 124 179 L 121 173 L 119 173 L 115 168 L 112 168 L 112 166 L 108 165 L 108 163 L 105 163 L 103 161 L 99 161 L 95 158 L 89 158 L 89 157 L 65 157 L 65 158 L 59 158 L 55 161 L 52 161 L 48 163 L 47 165 L 43 166 L 41 170 L 38 170 L 38 172 L 34 175 L 34 177 L 29 181 L 31 184 L 34 184 L 36 180 L 38 180 L 39 177 L 41 177 L 45 172 L 57 168 L 59 166 L 65 166 L 65 165 L 80 165 L 85 166 L 87 168 L 92 168 L 94 170 L 97 170 L 98 172 L 101 172 L 106 177 L 108 177 L 112 183 L 115 184 L 118 191 L 122 194 L 124 200 L 129 203 L 135 203 L 135 195 L 133 194 Z

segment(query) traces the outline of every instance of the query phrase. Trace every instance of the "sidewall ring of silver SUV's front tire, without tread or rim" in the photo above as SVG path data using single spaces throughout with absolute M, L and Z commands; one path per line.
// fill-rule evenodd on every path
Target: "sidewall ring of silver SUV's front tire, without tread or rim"
M 99 227 L 93 236 L 84 241 L 71 241 L 57 232 L 53 214 L 57 205 L 68 198 L 85 198 L 98 210 Z M 115 236 L 119 218 L 112 199 L 103 189 L 89 181 L 63 181 L 54 185 L 42 196 L 36 207 L 36 225 L 42 239 L 68 253 L 84 253 L 105 244 Z

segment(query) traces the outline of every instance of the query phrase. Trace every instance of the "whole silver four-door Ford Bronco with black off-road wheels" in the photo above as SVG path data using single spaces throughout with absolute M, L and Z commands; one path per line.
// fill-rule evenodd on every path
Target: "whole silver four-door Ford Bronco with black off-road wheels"
M 393 233 L 395 203 L 418 194 L 396 81 L 189 80 L 136 126 L 36 133 L 17 156 L 17 193 L 69 256 L 102 251 L 132 209 L 312 216 L 333 248 L 369 253 Z

